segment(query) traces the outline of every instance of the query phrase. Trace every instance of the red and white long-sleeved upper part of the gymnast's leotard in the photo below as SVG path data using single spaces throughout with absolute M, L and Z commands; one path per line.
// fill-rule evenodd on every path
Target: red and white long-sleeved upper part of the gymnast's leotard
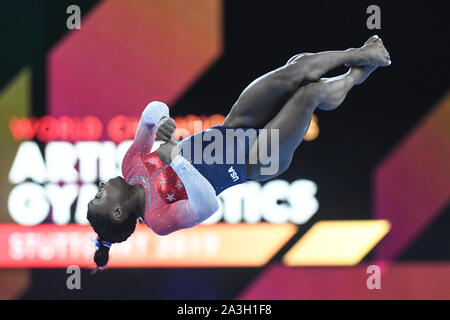
M 167 105 L 149 103 L 122 162 L 125 181 L 145 189 L 144 222 L 160 235 L 192 227 L 219 208 L 211 183 L 183 156 L 167 165 L 156 152 L 150 152 L 164 116 L 169 116 Z

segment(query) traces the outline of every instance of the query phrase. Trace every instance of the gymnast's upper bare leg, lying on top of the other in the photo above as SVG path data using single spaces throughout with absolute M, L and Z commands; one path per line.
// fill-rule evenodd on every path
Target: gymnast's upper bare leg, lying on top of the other
M 296 55 L 286 65 L 253 81 L 239 96 L 223 125 L 263 128 L 302 84 L 318 81 L 341 65 L 382 66 L 387 65 L 389 59 L 389 53 L 377 36 L 371 37 L 361 48 Z

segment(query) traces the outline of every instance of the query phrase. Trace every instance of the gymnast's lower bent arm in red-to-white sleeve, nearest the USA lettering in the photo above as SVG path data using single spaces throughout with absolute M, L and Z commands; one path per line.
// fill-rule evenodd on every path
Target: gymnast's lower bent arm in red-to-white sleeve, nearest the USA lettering
M 170 166 L 183 182 L 189 199 L 163 205 L 150 213 L 149 226 L 159 235 L 193 227 L 219 209 L 213 186 L 188 160 L 177 155 Z

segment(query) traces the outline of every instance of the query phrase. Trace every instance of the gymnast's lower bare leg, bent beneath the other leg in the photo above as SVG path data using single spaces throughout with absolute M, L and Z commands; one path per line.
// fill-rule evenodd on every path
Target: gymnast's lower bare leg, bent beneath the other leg
M 361 84 L 375 69 L 376 66 L 352 67 L 345 75 L 321 79 L 297 90 L 278 114 L 264 127 L 264 129 L 268 129 L 266 131 L 268 135 L 267 140 L 264 140 L 263 143 L 271 141 L 270 136 L 273 133 L 271 129 L 278 130 L 278 171 L 270 175 L 263 174 L 261 168 L 265 167 L 264 165 L 247 163 L 247 179 L 265 181 L 283 173 L 289 167 L 295 150 L 305 136 L 314 110 L 316 108 L 322 110 L 337 108 L 344 101 L 350 89 Z M 262 139 L 261 134 L 259 139 Z M 257 154 L 258 140 L 250 148 L 250 156 L 254 158 Z

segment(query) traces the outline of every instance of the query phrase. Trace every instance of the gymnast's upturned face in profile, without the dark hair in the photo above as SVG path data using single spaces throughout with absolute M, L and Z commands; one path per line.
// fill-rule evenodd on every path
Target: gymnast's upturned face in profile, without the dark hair
M 125 209 L 124 204 L 130 196 L 130 185 L 122 177 L 116 177 L 106 183 L 99 183 L 98 192 L 89 202 L 88 208 L 98 214 L 113 214 L 117 208 L 122 211 Z

